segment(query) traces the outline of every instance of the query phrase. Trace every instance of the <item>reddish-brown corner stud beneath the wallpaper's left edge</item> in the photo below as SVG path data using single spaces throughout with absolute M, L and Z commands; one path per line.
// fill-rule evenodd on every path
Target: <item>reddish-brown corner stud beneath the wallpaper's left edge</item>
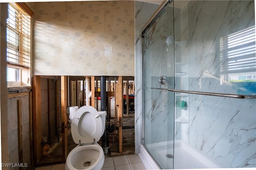
M 32 119 L 34 141 L 34 164 L 42 159 L 42 127 L 41 127 L 41 77 L 32 77 Z

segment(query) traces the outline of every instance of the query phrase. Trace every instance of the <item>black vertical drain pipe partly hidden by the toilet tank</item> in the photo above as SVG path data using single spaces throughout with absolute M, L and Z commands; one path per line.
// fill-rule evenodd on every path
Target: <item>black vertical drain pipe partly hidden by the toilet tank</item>
M 106 111 L 106 76 L 100 77 L 100 110 Z M 108 118 L 108 113 L 107 117 Z M 108 133 L 106 131 L 107 128 L 105 128 L 105 131 L 101 137 L 102 139 L 102 149 L 104 150 L 104 154 L 108 154 Z

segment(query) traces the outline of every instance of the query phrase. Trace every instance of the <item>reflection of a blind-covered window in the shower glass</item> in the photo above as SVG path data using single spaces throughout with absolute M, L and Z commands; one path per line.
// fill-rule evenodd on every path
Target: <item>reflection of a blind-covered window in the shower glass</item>
M 222 37 L 220 39 L 221 82 L 255 79 L 255 50 L 255 26 Z

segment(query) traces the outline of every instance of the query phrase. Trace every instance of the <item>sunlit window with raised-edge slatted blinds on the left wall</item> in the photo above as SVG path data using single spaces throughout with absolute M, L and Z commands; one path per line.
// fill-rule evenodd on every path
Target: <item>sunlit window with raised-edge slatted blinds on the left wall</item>
M 22 85 L 30 77 L 30 18 L 25 3 L 9 3 L 6 26 L 8 85 Z M 22 76 L 24 75 L 24 76 Z M 10 83 L 12 82 L 12 84 Z

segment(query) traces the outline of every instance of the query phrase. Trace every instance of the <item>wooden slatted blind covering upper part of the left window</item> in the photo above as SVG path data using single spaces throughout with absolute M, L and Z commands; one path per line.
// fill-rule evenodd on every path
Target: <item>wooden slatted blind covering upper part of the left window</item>
M 15 4 L 8 4 L 6 29 L 7 66 L 30 68 L 30 15 Z

